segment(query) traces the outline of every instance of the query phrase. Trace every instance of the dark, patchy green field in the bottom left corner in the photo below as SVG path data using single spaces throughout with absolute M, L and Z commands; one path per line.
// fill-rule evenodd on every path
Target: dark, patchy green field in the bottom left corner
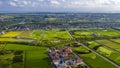
M 15 52 L 17 51 L 0 51 L 0 68 L 22 68 L 24 66 L 23 58 L 20 58 L 19 61 L 15 59 L 16 57 L 23 56 L 24 53 L 15 55 Z

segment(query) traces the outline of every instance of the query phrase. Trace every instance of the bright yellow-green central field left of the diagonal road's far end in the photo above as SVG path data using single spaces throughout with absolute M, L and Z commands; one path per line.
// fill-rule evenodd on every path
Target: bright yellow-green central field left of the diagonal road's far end
M 52 29 L 45 31 L 44 40 L 48 41 L 70 40 L 70 36 L 66 32 L 66 30 Z

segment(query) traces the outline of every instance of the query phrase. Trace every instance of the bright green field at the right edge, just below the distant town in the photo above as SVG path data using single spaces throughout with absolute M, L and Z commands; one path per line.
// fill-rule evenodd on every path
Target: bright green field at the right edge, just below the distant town
M 102 37 L 103 36 L 109 36 L 109 37 L 120 36 L 120 34 L 117 31 L 114 31 L 112 29 L 90 29 L 90 30 Z

